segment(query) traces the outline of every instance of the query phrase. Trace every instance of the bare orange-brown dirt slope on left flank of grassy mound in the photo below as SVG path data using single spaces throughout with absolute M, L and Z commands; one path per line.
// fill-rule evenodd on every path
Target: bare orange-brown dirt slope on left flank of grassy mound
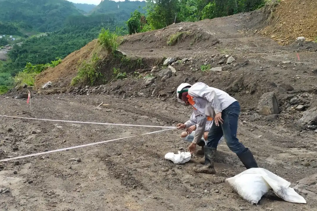
M 36 87 L 41 87 L 48 81 L 57 83 L 58 85 L 56 86 L 58 87 L 68 86 L 72 78 L 77 74 L 77 66 L 79 62 L 92 56 L 96 43 L 97 40 L 89 42 L 80 50 L 69 54 L 65 59 L 63 59 L 61 64 L 43 71 L 36 77 Z

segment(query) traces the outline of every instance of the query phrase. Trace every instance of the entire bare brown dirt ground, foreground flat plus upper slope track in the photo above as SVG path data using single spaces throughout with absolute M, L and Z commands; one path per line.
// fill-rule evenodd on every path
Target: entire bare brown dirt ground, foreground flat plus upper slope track
M 301 195 L 307 204 L 281 201 L 272 192 L 258 206 L 243 201 L 225 179 L 245 168 L 225 143 L 218 147 L 216 175 L 192 171 L 198 164 L 197 156 L 183 165 L 165 160 L 167 152 L 185 151 L 188 145 L 179 139 L 180 131 L 171 130 L 1 163 L 0 188 L 10 188 L 0 195 L 1 210 L 317 210 L 317 133 L 299 130 L 296 126 L 303 112 L 285 106 L 294 97 L 298 97 L 305 110 L 316 105 L 317 53 L 314 46 L 305 48 L 310 43 L 280 46 L 257 34 L 253 27 L 261 22 L 261 17 L 261 12 L 256 11 L 127 36 L 120 46 L 127 55 L 189 61 L 174 64 L 176 74 L 163 81 L 155 79 L 148 86 L 143 78 L 127 78 L 97 89 L 79 87 L 77 90 L 81 91 L 73 92 L 78 95 L 35 95 L 32 112 L 25 100 L 8 95 L 0 98 L 0 114 L 171 126 L 191 115 L 191 108 L 176 102 L 178 84 L 202 81 L 239 100 L 243 108 L 239 139 L 251 149 L 260 167 L 292 185 L 299 181 L 305 189 Z M 171 47 L 166 45 L 166 39 L 160 40 L 164 34 L 177 30 L 193 30 L 200 39 L 193 42 L 190 37 Z M 235 57 L 235 62 L 218 64 L 225 54 Z M 207 63 L 211 67 L 221 66 L 223 71 L 200 71 L 200 65 Z M 54 75 L 55 79 L 66 77 Z M 277 119 L 255 112 L 260 96 L 268 91 L 277 94 L 281 109 Z M 100 102 L 109 105 L 96 109 Z M 1 158 L 158 130 L 0 120 Z M 74 161 L 77 158 L 81 161 Z

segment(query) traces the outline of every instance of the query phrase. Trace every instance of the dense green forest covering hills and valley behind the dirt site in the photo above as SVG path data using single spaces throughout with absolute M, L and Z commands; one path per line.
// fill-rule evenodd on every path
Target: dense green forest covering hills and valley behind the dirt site
M 14 45 L 9 51 L 9 59 L 0 61 L 0 86 L 10 87 L 12 77 L 27 64 L 48 64 L 56 58 L 64 58 L 97 38 L 102 28 L 114 31 L 119 27 L 121 34 L 133 34 L 164 28 L 173 22 L 194 22 L 251 11 L 263 6 L 266 0 L 104 0 L 89 15 L 82 14 L 89 10 L 87 5 L 75 7 L 63 0 L 0 2 L 0 34 L 6 32 L 24 37 L 22 45 Z M 8 9 L 3 9 L 3 2 L 7 3 Z M 19 6 L 28 3 L 25 7 Z M 63 15 L 56 15 L 61 13 Z M 27 38 L 25 32 L 34 28 L 51 33 Z M 0 43 L 6 44 L 6 40 L 0 40 Z

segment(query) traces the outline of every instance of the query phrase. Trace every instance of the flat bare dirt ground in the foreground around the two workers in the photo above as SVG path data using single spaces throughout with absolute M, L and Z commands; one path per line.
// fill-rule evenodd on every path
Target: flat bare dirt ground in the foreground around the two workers
M 0 113 L 160 126 L 185 121 L 191 113 L 189 107 L 152 99 L 60 95 L 32 100 L 29 112 L 25 100 L 4 98 Z M 96 109 L 101 101 L 109 106 Z M 290 131 L 279 124 L 263 125 L 256 119 L 261 117 L 243 113 L 238 136 L 261 167 L 293 184 L 317 173 L 315 134 Z M 1 118 L 1 158 L 155 130 L 159 129 Z M 172 164 L 164 159 L 165 153 L 187 146 L 179 133 L 172 130 L 2 163 L 0 185 L 10 192 L 1 195 L 1 210 L 316 210 L 316 197 L 305 195 L 307 205 L 283 202 L 273 193 L 263 197 L 259 206 L 243 201 L 224 182 L 244 171 L 224 143 L 219 146 L 216 175 L 193 172 L 196 158 L 184 165 Z M 310 186 L 316 193 L 315 183 Z

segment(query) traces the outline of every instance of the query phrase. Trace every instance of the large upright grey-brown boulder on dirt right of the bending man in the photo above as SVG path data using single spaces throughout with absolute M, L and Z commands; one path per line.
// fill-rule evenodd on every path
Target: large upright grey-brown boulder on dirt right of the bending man
M 280 113 L 274 92 L 267 92 L 261 96 L 256 112 L 264 116 Z

